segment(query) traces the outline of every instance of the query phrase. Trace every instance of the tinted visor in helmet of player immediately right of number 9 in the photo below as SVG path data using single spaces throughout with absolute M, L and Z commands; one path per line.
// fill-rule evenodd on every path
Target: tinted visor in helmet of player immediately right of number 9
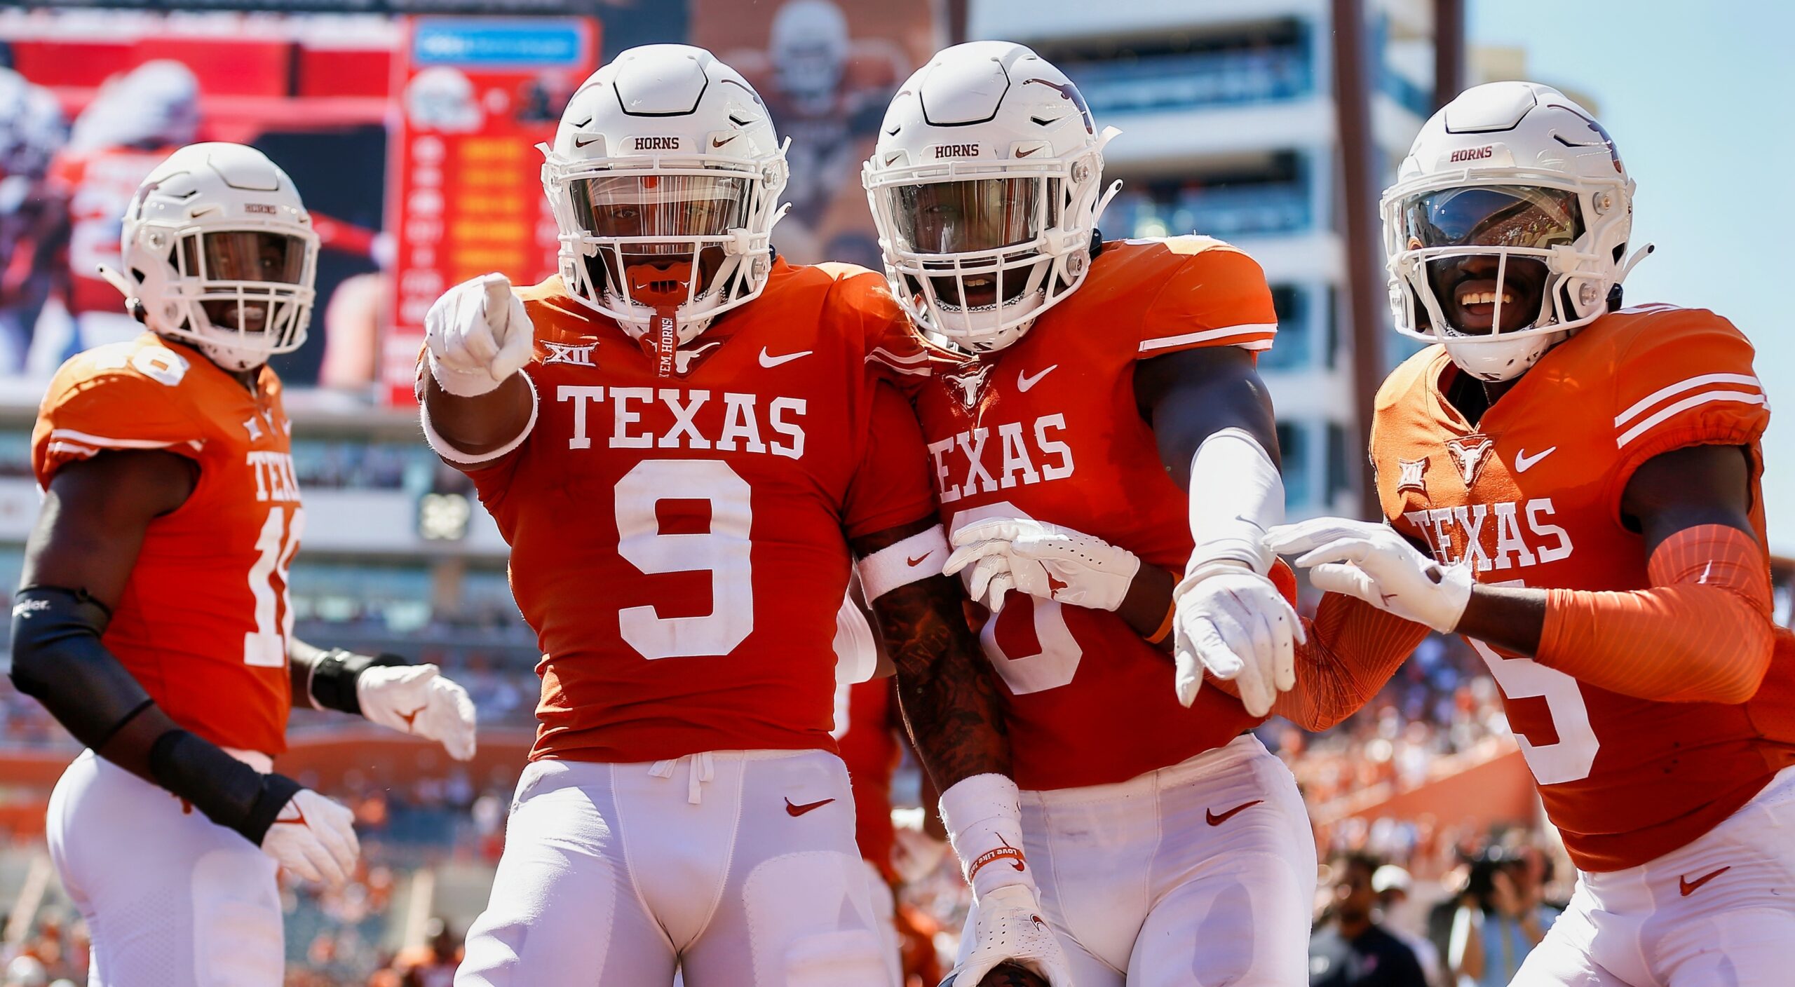
M 1027 244 L 1041 231 L 1039 178 L 933 181 L 892 188 L 892 233 L 905 253 L 969 253 Z M 1052 219 L 1048 219 L 1052 223 Z

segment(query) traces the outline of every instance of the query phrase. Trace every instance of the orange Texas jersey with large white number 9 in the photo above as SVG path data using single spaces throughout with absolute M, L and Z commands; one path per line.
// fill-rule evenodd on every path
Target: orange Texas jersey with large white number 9
M 933 513 L 915 416 L 867 361 L 908 332 L 883 280 L 775 262 L 675 377 L 558 278 L 521 294 L 538 416 L 468 476 L 544 653 L 531 757 L 835 750 L 845 538 Z

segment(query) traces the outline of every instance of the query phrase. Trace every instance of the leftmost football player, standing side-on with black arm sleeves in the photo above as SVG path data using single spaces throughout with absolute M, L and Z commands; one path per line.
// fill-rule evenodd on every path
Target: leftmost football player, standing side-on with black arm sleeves
M 93 983 L 276 985 L 275 869 L 341 883 L 346 808 L 273 773 L 293 705 L 474 756 L 436 666 L 293 637 L 303 510 L 275 354 L 305 341 L 316 237 L 260 151 L 183 147 L 106 271 L 147 327 L 56 373 L 32 432 L 45 501 L 13 607 L 13 682 L 88 747 L 50 795 Z M 194 809 L 199 809 L 197 813 Z

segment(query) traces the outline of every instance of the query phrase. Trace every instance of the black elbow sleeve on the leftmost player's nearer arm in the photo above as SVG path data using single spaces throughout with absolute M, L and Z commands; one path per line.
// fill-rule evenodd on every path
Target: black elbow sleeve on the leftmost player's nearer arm
M 13 599 L 13 686 L 99 750 L 151 703 L 101 644 L 111 614 L 86 592 L 59 587 L 22 589 Z

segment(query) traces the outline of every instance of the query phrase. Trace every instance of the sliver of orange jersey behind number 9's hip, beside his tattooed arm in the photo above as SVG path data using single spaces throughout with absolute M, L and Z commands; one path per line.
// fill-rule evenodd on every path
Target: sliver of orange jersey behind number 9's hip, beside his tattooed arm
M 903 761 L 892 705 L 890 678 L 836 686 L 835 743 L 854 791 L 854 843 L 887 881 L 898 879 L 892 865 L 892 775 Z

